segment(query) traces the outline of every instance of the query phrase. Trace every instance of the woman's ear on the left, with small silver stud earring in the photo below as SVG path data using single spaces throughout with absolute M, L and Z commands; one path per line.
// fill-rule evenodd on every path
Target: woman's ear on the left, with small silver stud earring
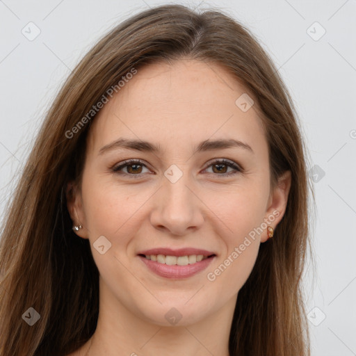
M 81 229 L 78 231 L 73 230 L 74 233 L 82 238 L 88 238 L 88 229 L 86 229 L 86 220 L 83 213 L 81 191 L 73 181 L 67 183 L 65 196 L 67 198 L 67 209 L 70 213 L 70 218 L 72 218 L 73 226 L 81 225 Z

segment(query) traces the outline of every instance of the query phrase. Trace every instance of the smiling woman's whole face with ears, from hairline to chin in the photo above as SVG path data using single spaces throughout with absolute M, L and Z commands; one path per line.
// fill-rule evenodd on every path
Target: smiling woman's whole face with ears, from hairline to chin
M 241 110 L 244 93 L 253 97 L 218 65 L 155 63 L 92 122 L 68 208 L 90 240 L 101 298 L 156 325 L 171 314 L 189 325 L 236 301 L 290 184 L 270 191 L 257 99 Z

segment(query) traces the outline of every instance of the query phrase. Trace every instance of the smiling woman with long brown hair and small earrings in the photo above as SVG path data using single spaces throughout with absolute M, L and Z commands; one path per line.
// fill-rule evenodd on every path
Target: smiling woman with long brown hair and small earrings
M 0 355 L 309 355 L 306 154 L 270 58 L 184 6 L 51 106 L 1 237 Z

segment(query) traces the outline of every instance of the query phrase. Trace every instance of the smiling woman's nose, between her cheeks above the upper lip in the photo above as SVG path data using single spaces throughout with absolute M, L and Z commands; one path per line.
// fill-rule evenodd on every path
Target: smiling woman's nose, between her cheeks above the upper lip
M 154 208 L 150 215 L 151 224 L 161 231 L 183 236 L 204 223 L 204 203 L 196 188 L 183 175 L 172 183 L 163 177 L 162 186 L 154 197 Z

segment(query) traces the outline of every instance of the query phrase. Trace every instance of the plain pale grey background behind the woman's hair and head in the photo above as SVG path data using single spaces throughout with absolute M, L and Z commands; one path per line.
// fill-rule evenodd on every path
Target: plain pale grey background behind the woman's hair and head
M 0 1 L 1 219 L 44 113 L 74 65 L 122 19 L 161 3 Z M 200 8 L 209 5 L 257 36 L 296 102 L 316 193 L 317 268 L 314 278 L 312 266 L 305 275 L 312 356 L 356 355 L 356 1 L 204 1 Z

